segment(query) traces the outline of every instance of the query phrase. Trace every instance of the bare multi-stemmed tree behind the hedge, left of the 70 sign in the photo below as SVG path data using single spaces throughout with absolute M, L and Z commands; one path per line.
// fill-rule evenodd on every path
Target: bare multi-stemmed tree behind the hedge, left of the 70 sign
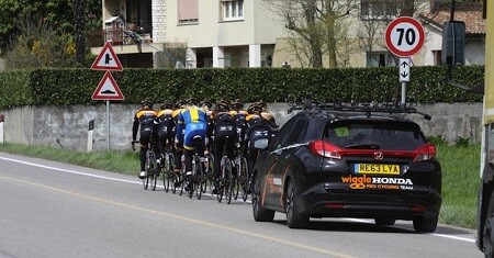
M 268 10 L 276 13 L 292 37 L 290 42 L 296 55 L 306 53 L 310 67 L 337 67 L 339 41 L 347 38 L 340 30 L 345 19 L 359 8 L 358 0 L 262 0 Z

